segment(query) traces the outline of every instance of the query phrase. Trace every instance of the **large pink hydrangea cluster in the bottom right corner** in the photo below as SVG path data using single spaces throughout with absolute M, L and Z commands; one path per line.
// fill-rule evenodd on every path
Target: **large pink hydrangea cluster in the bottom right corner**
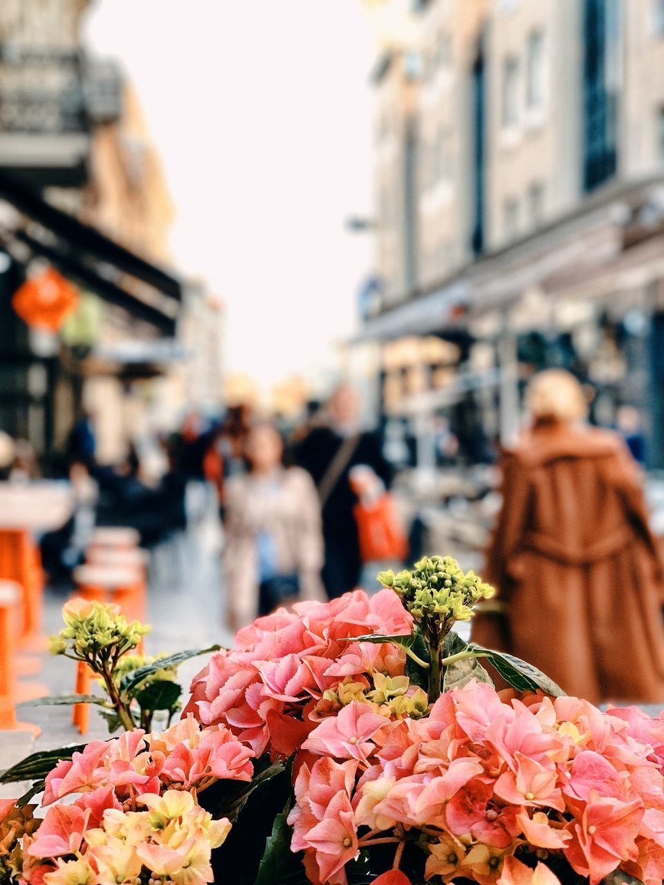
M 664 877 L 664 717 L 471 681 L 421 720 L 353 702 L 304 749 L 289 822 L 316 885 L 345 885 L 345 865 L 386 843 L 425 881 Z

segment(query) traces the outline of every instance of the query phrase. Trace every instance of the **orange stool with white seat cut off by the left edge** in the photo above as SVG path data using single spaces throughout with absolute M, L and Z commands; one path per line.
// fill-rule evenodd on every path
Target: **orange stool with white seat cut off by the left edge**
M 15 637 L 17 613 L 23 593 L 18 583 L 0 581 L 0 728 L 30 731 L 35 737 L 42 729 L 16 719 L 16 704 L 48 694 L 45 686 L 19 683 L 15 673 Z

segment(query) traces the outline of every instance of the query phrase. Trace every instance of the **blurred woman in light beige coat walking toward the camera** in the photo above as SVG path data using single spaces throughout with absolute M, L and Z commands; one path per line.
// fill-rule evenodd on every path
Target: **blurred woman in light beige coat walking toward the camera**
M 226 484 L 225 552 L 232 629 L 281 604 L 325 596 L 320 583 L 320 504 L 311 477 L 282 466 L 282 438 L 269 423 L 250 428 L 246 473 Z

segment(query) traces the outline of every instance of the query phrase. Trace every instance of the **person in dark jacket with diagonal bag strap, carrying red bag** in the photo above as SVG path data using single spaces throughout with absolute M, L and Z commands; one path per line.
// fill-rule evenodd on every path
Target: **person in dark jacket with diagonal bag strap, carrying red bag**
M 308 471 L 320 496 L 325 542 L 323 585 L 330 599 L 355 589 L 362 561 L 353 516 L 357 497 L 349 472 L 367 465 L 390 487 L 392 468 L 383 457 L 378 436 L 359 429 L 359 400 L 353 389 L 338 387 L 328 400 L 327 421 L 313 427 L 297 445 L 294 457 Z

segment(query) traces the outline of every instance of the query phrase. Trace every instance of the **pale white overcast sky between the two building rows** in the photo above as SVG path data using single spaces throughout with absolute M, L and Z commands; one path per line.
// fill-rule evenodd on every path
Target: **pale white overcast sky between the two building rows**
M 359 0 L 96 0 L 158 146 L 177 265 L 228 304 L 228 369 L 310 373 L 351 334 L 371 199 L 371 38 Z

